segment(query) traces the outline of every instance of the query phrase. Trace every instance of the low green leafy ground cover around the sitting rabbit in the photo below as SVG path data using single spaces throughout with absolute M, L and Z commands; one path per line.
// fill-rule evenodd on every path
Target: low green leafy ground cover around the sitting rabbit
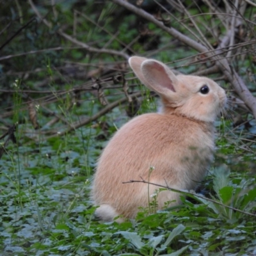
M 156 108 L 155 101 L 148 100 L 144 100 L 145 108 Z M 120 120 L 120 111 L 111 114 L 113 122 L 109 126 L 113 129 L 109 131 L 115 132 L 126 121 Z M 10 144 L 1 159 L 0 246 L 4 255 L 253 255 L 256 252 L 255 175 L 245 168 L 234 172 L 228 157 L 237 154 L 237 150 L 234 144 L 227 143 L 225 132 L 217 141 L 219 150 L 214 163 L 220 166 L 212 167 L 205 178 L 207 195 L 188 196 L 184 192 L 183 205 L 160 212 L 152 211 L 154 205 L 151 205 L 151 211 L 141 209 L 136 220 L 122 224 L 100 223 L 93 216 L 90 182 L 96 159 L 106 145 L 97 125 L 38 142 L 22 138 L 20 132 L 22 125 L 17 129 L 17 144 Z M 218 156 L 227 154 L 223 150 L 228 152 L 227 159 Z M 243 156 L 246 159 L 246 154 Z M 221 165 L 223 162 L 226 166 Z

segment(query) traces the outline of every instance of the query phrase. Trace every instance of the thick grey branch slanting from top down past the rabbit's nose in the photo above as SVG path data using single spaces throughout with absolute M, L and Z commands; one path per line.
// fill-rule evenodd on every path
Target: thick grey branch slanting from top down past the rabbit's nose
M 180 33 L 174 28 L 168 28 L 164 26 L 163 22 L 155 19 L 153 15 L 150 15 L 144 10 L 137 8 L 136 6 L 130 4 L 129 2 L 124 0 L 112 0 L 112 1 L 113 3 L 119 4 L 120 6 L 127 8 L 131 12 L 136 13 L 140 17 L 143 17 L 144 19 L 147 19 L 150 22 L 153 22 L 159 28 L 163 29 L 168 34 L 180 40 L 180 42 L 183 42 L 184 44 L 188 45 L 189 47 L 192 47 L 196 51 L 202 52 L 207 56 L 210 56 L 213 60 L 215 60 L 216 65 L 218 65 L 220 70 L 223 72 L 223 74 L 227 77 L 228 81 L 232 84 L 232 86 L 236 90 L 236 93 L 246 103 L 248 108 L 250 108 L 250 110 L 252 111 L 254 118 L 256 118 L 256 99 L 255 97 L 253 97 L 252 93 L 248 90 L 248 88 L 244 84 L 244 81 L 241 79 L 241 77 L 238 76 L 238 74 L 236 73 L 236 70 L 230 67 L 227 60 L 218 60 L 218 59 L 216 60 L 216 58 L 212 57 L 211 52 L 209 52 L 208 49 L 204 47 L 204 45 L 196 42 L 195 40 L 189 38 L 186 35 L 183 35 L 182 33 Z

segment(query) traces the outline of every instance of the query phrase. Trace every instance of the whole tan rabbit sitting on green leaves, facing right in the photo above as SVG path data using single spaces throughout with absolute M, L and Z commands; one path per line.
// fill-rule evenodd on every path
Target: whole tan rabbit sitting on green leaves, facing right
M 134 219 L 138 207 L 148 207 L 158 186 L 195 189 L 213 159 L 214 120 L 225 107 L 225 90 L 207 77 L 175 76 L 164 63 L 139 56 L 129 65 L 162 101 L 160 113 L 132 118 L 104 148 L 93 177 L 95 215 L 103 221 Z M 157 195 L 157 209 L 179 205 L 180 194 Z M 116 218 L 122 216 L 122 218 Z

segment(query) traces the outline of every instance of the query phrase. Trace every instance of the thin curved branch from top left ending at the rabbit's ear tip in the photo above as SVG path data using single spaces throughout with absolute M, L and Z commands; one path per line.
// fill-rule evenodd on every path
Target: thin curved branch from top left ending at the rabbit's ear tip
M 33 3 L 33 1 L 32 0 L 28 0 L 28 1 L 29 1 L 29 4 L 31 5 L 31 8 L 36 13 L 37 17 L 40 18 L 40 20 L 42 20 L 47 27 L 51 28 L 52 24 L 50 22 L 48 22 L 44 17 L 42 17 L 40 12 L 38 12 L 38 10 L 37 10 L 35 4 Z M 86 49 L 89 52 L 113 54 L 113 55 L 125 58 L 126 60 L 129 59 L 129 55 L 125 54 L 124 52 L 115 51 L 115 50 L 111 50 L 111 49 L 98 49 L 98 48 L 95 48 L 95 47 L 91 47 L 90 45 L 85 44 L 85 43 L 77 40 L 76 38 L 73 38 L 70 35 L 67 35 L 61 29 L 59 29 L 57 31 L 57 33 L 59 35 L 63 36 L 63 38 L 66 38 L 68 41 L 72 42 L 73 44 L 79 45 L 79 46 L 83 47 L 84 49 Z

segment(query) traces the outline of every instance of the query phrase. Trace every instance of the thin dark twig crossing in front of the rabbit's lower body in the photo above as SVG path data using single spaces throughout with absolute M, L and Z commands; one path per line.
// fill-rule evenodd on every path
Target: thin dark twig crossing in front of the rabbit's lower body
M 236 209 L 234 207 L 231 207 L 231 206 L 228 206 L 228 205 L 225 205 L 225 204 L 222 204 L 216 200 L 213 200 L 211 198 L 207 198 L 205 196 L 201 196 L 201 195 L 198 195 L 198 194 L 195 194 L 195 193 L 191 193 L 191 192 L 187 192 L 187 191 L 182 191 L 182 190 L 179 190 L 179 189 L 174 189 L 174 188 L 170 188 L 167 183 L 166 183 L 166 186 L 163 186 L 163 185 L 159 185 L 159 184 L 156 184 L 156 183 L 153 183 L 153 182 L 148 182 L 146 180 L 144 180 L 142 177 L 140 177 L 141 180 L 129 180 L 129 181 L 126 181 L 126 182 L 122 182 L 123 184 L 127 184 L 127 183 L 133 183 L 133 182 L 142 182 L 142 183 L 145 183 L 145 184 L 150 184 L 150 185 L 154 185 L 154 186 L 157 186 L 157 187 L 160 187 L 160 188 L 166 188 L 166 189 L 169 189 L 173 192 L 177 192 L 177 193 L 185 193 L 186 195 L 193 195 L 193 196 L 196 196 L 196 197 L 199 197 L 199 198 L 202 198 L 204 200 L 207 200 L 207 201 L 210 201 L 214 204 L 218 204 L 218 205 L 221 205 L 223 207 L 226 207 L 228 209 L 231 209 L 233 211 L 237 211 L 237 212 L 241 212 L 243 214 L 247 214 L 249 216 L 253 216 L 253 217 L 256 217 L 256 214 L 253 214 L 253 213 L 250 213 L 250 212 L 244 212 L 244 211 L 241 211 L 239 209 Z

